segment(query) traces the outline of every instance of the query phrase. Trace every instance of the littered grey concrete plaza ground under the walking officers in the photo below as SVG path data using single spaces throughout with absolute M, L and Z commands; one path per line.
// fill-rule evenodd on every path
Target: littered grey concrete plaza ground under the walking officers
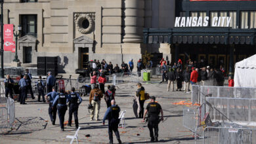
M 142 84 L 150 96 L 156 96 L 156 101 L 163 109 L 164 121 L 159 125 L 158 143 L 194 143 L 192 132 L 182 126 L 183 105 L 173 105 L 174 102 L 190 100 L 190 94 L 184 92 L 167 92 L 167 83 Z M 119 84 L 117 86 L 116 101 L 121 111 L 126 110 L 125 115 L 127 128 L 119 128 L 123 143 L 150 143 L 147 125 L 142 119 L 135 118 L 133 114 L 133 96 L 137 86 L 135 83 Z M 89 97 L 82 97 L 83 102 L 79 106 L 78 117 L 79 143 L 108 143 L 108 126 L 102 125 L 102 121 L 91 121 L 87 105 Z M 148 100 L 145 102 L 146 107 Z M 16 126 L 14 130 L 0 135 L 0 143 L 70 143 L 66 135 L 74 135 L 74 122 L 72 127 L 65 126 L 65 132 L 60 131 L 58 116 L 56 125 L 49 120 L 48 103 L 39 103 L 36 99 L 28 99 L 28 105 L 16 105 Z M 100 119 L 106 112 L 106 103 L 101 101 Z M 46 122 L 49 120 L 49 122 Z M 68 111 L 65 121 L 68 120 Z M 74 120 L 74 118 L 73 118 Z M 86 137 L 85 135 L 90 135 Z M 117 143 L 114 136 L 114 143 Z

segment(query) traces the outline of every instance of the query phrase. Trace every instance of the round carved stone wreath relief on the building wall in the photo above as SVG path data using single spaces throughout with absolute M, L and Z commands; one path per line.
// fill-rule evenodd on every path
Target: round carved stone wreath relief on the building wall
M 95 13 L 75 13 L 74 20 L 79 33 L 87 34 L 95 30 Z

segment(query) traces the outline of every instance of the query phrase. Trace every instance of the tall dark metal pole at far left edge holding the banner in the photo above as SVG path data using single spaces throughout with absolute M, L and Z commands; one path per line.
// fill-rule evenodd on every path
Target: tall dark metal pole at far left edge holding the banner
M 0 78 L 4 78 L 3 71 L 3 0 L 1 0 L 1 69 L 0 69 Z

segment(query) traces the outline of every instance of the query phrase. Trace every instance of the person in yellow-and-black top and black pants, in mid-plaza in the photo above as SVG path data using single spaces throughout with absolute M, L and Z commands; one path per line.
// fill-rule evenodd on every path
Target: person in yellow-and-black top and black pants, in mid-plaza
M 145 102 L 145 88 L 142 86 L 141 83 L 137 83 L 137 91 L 136 96 L 139 97 L 139 103 L 140 103 L 140 113 L 139 118 L 143 118 L 144 113 L 144 102 Z

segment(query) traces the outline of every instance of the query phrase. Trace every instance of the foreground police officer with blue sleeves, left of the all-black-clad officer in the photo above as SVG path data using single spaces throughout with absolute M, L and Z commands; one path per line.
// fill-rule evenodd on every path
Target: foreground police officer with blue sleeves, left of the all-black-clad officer
M 104 118 L 103 118 L 103 125 L 105 125 L 105 120 L 108 118 L 108 136 L 110 139 L 110 144 L 113 143 L 113 132 L 115 132 L 116 138 L 118 143 L 122 143 L 120 139 L 120 135 L 118 132 L 118 124 L 120 122 L 119 120 L 119 112 L 120 112 L 120 107 L 116 105 L 116 101 L 112 99 L 111 101 L 111 107 L 108 107 Z

